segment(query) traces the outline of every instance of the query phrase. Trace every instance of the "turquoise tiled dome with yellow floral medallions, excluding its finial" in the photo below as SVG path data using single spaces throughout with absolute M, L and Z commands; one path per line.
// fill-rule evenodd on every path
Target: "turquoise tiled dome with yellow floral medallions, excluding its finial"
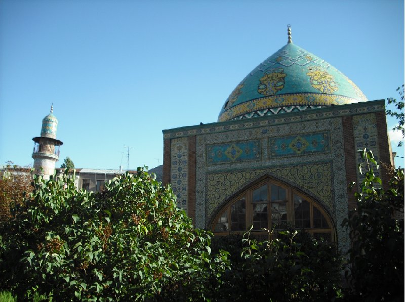
M 237 85 L 218 121 L 363 101 L 366 96 L 347 76 L 289 42 Z

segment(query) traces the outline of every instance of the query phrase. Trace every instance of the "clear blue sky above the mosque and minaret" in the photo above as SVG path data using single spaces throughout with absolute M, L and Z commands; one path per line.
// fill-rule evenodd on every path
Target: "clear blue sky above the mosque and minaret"
M 287 24 L 369 100 L 399 97 L 402 0 L 0 1 L 0 164 L 33 163 L 53 103 L 57 167 L 69 156 L 126 168 L 124 146 L 130 168 L 155 167 L 161 131 L 217 121 L 240 80 L 287 43 Z

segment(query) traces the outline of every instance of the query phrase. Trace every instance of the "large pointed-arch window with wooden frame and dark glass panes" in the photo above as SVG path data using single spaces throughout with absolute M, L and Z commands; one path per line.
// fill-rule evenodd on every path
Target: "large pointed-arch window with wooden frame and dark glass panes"
M 335 241 L 327 213 L 304 194 L 267 179 L 232 199 L 217 215 L 212 231 L 217 235 L 243 233 L 253 225 L 257 234 L 282 230 L 287 225 L 314 237 Z

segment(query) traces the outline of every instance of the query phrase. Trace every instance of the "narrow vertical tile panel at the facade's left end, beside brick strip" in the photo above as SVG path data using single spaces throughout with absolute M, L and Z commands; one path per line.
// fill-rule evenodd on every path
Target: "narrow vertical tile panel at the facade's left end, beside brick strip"
M 171 141 L 171 184 L 177 196 L 177 206 L 187 211 L 188 141 L 178 138 Z

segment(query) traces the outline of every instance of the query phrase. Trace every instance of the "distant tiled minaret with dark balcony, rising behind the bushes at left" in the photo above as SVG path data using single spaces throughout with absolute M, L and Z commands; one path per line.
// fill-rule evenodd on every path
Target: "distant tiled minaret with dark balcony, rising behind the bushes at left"
M 45 179 L 54 174 L 55 163 L 59 160 L 59 147 L 63 145 L 56 139 L 58 120 L 52 112 L 53 106 L 51 113 L 42 120 L 41 136 L 32 139 L 35 142 L 32 152 L 35 174 L 41 174 Z

